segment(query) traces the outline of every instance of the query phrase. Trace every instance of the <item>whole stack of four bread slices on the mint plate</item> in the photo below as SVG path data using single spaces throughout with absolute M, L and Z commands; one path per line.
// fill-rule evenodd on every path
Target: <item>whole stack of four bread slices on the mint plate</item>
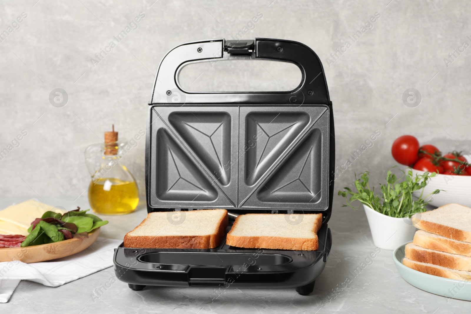
M 471 209 L 447 204 L 415 214 L 421 229 L 406 245 L 402 264 L 422 273 L 471 281 Z

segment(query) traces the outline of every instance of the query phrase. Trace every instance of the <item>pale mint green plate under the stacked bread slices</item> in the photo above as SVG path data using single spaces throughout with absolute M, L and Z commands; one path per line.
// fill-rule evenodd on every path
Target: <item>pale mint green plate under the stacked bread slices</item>
M 406 244 L 404 243 L 392 252 L 394 264 L 406 282 L 442 297 L 471 301 L 471 282 L 429 275 L 403 265 L 402 259 L 406 255 L 404 251 Z

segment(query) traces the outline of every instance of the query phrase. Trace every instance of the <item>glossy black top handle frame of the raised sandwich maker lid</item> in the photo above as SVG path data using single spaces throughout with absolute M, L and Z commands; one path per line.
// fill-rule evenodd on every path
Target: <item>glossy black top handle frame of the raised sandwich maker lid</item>
M 187 64 L 214 64 L 234 59 L 291 62 L 300 68 L 300 85 L 292 91 L 283 92 L 189 92 L 179 86 L 179 72 Z M 316 53 L 297 41 L 266 38 L 194 41 L 172 48 L 159 65 L 149 105 L 169 103 L 331 105 L 324 69 Z

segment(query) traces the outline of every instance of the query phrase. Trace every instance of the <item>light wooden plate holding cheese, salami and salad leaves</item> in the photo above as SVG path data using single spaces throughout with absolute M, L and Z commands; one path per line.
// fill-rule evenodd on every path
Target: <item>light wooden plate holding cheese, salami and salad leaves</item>
M 24 248 L 0 249 L 0 262 L 22 261 L 23 263 L 36 263 L 64 258 L 88 248 L 100 234 L 100 228 L 90 232 L 88 238 L 69 239 L 60 242 L 32 245 Z

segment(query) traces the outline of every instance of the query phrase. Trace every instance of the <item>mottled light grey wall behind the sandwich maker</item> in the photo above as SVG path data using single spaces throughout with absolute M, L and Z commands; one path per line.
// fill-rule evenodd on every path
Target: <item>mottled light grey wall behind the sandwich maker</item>
M 350 183 L 355 171 L 368 169 L 383 177 L 396 164 L 390 146 L 403 134 L 444 151 L 470 151 L 471 48 L 448 66 L 444 62 L 463 42 L 471 44 L 471 8 L 465 0 L 0 3 L 0 32 L 11 30 L 0 42 L 0 150 L 27 132 L 0 161 L 5 196 L 81 194 L 90 179 L 85 148 L 98 143 L 112 123 L 120 137 L 145 130 L 147 101 L 164 54 L 186 41 L 230 39 L 244 30 L 244 39 L 303 42 L 321 58 L 333 101 L 338 165 L 381 131 L 373 147 L 338 177 L 336 190 Z M 22 12 L 27 16 L 15 24 Z M 140 12 L 145 17 L 138 27 L 94 66 L 90 59 L 110 41 L 116 43 L 113 36 Z M 258 12 L 263 17 L 244 29 Z M 349 36 L 375 12 L 381 17 L 373 28 L 353 42 Z M 346 41 L 351 47 L 329 66 L 327 58 Z M 186 71 L 186 80 L 200 88 L 214 82 L 247 88 L 255 77 L 262 87 L 279 89 L 294 75 L 274 64 L 238 73 L 231 79 L 206 65 Z M 49 103 L 56 88 L 68 94 L 60 108 Z M 422 95 L 414 108 L 402 101 L 409 88 Z M 125 164 L 144 194 L 144 140 L 126 155 Z

